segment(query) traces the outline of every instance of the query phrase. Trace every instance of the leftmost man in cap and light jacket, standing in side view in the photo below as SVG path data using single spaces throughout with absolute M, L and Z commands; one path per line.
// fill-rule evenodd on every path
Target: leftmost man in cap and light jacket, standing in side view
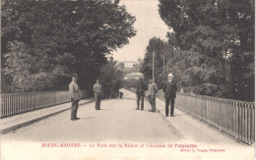
M 77 111 L 78 111 L 78 103 L 80 100 L 80 90 L 78 86 L 78 75 L 73 74 L 72 75 L 72 81 L 69 84 L 69 92 L 70 92 L 70 98 L 72 101 L 71 105 L 71 120 L 79 120 L 77 118 Z

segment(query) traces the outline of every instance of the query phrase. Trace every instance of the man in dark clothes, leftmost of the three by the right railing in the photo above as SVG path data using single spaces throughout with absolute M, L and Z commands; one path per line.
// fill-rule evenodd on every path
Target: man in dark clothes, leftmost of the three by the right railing
M 144 84 L 142 78 L 139 79 L 139 83 L 137 85 L 136 95 L 137 95 L 137 108 L 139 110 L 140 101 L 141 101 L 141 111 L 144 110 L 144 92 L 146 90 L 146 85 Z

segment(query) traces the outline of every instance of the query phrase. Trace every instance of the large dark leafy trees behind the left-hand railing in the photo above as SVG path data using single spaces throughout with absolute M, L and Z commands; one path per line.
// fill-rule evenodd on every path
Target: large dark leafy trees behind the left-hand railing
M 73 73 L 82 89 L 99 77 L 105 85 L 119 86 L 119 79 L 113 80 L 120 74 L 117 64 L 106 56 L 136 30 L 135 17 L 118 3 L 3 0 L 2 92 L 67 89 Z

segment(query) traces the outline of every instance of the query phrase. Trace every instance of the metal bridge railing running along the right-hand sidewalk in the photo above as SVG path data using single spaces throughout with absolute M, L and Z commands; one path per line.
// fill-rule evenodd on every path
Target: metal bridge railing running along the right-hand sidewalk
M 158 97 L 164 99 L 163 92 Z M 248 144 L 255 138 L 255 104 L 211 96 L 177 93 L 175 105 L 182 111 Z

